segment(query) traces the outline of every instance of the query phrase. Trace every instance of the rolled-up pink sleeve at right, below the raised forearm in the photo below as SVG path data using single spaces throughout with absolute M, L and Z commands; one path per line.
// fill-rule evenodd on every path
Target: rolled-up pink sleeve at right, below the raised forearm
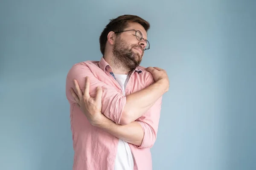
M 141 125 L 144 132 L 142 144 L 138 148 L 151 148 L 157 139 L 157 130 L 160 119 L 162 96 L 155 104 L 136 121 Z

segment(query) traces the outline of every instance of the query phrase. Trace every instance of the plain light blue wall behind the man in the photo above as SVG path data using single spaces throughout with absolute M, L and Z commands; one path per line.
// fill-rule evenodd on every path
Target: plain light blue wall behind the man
M 0 170 L 72 168 L 67 71 L 121 14 L 150 21 L 142 65 L 170 78 L 154 170 L 255 170 L 255 0 L 2 0 Z

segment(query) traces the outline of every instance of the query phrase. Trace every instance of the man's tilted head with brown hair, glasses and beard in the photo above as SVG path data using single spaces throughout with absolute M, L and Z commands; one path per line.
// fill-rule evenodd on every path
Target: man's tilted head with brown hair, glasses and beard
M 144 50 L 149 49 L 147 31 L 150 24 L 136 15 L 122 15 L 110 20 L 99 38 L 103 56 L 111 53 L 112 60 L 125 69 L 140 65 Z

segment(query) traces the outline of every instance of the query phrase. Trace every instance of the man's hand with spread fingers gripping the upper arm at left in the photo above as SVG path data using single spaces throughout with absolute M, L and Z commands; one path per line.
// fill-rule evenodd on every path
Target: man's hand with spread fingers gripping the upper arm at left
M 90 79 L 85 78 L 84 94 L 82 93 L 78 82 L 74 79 L 75 91 L 70 88 L 70 92 L 75 99 L 77 105 L 80 107 L 81 111 L 87 117 L 92 125 L 97 125 L 100 122 L 102 116 L 102 88 L 97 87 L 96 96 L 91 97 L 90 92 Z

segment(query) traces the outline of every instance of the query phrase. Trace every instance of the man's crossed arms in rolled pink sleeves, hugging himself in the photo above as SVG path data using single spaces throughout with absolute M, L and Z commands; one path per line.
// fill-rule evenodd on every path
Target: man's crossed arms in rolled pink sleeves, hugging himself
M 85 77 L 89 79 L 84 81 Z M 71 90 L 70 95 L 67 94 L 68 99 L 79 103 L 81 108 L 84 107 L 83 112 L 87 118 L 88 114 L 97 117 L 98 121 L 91 122 L 92 125 L 106 130 L 119 139 L 135 144 L 139 148 L 153 146 L 160 118 L 161 96 L 165 92 L 160 88 L 160 84 L 152 79 L 154 83 L 147 88 L 123 96 L 115 88 L 96 79 L 86 65 L 73 67 L 68 78 L 67 88 L 76 91 L 75 93 Z M 76 79 L 77 82 L 73 83 L 72 79 Z M 84 87 L 84 94 L 81 93 L 79 84 Z M 98 86 L 101 87 L 99 94 L 96 93 L 96 91 L 99 92 L 96 90 Z M 101 99 L 104 101 L 99 110 L 95 105 L 101 102 Z M 100 111 L 105 116 L 102 113 L 99 114 Z

